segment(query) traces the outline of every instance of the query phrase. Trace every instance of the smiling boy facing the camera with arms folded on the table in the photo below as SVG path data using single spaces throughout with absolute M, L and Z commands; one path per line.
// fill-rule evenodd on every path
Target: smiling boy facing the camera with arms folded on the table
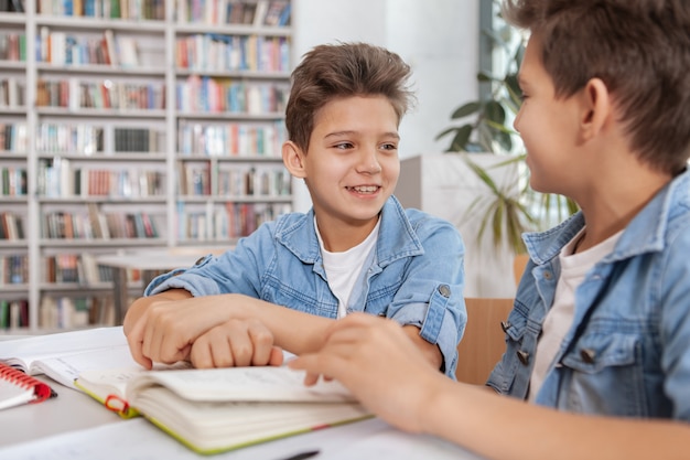
M 392 196 L 409 76 L 397 54 L 368 44 L 305 55 L 282 156 L 312 210 L 154 279 L 125 318 L 137 362 L 277 365 L 280 349 L 316 351 L 336 318 L 364 311 L 401 324 L 432 367 L 454 375 L 466 319 L 461 236 Z

